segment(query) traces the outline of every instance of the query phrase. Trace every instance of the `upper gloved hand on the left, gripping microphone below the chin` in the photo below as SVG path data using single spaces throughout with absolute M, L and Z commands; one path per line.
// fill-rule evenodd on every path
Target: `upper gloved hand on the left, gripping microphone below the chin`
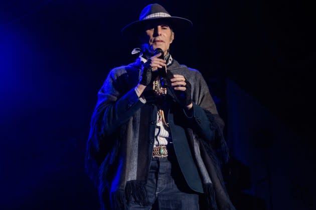
M 141 76 L 139 83 L 147 86 L 150 84 L 152 77 L 152 71 L 162 68 L 166 65 L 166 60 L 158 58 L 162 53 L 158 53 L 150 57 L 141 67 Z

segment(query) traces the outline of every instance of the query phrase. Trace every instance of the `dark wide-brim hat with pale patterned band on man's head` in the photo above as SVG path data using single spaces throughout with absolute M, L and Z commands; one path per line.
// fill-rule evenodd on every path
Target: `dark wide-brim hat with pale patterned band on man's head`
M 169 24 L 172 29 L 176 31 L 189 29 L 193 25 L 191 20 L 183 17 L 171 16 L 162 5 L 152 3 L 141 10 L 138 20 L 125 25 L 121 32 L 122 34 L 138 35 L 143 31 L 146 25 L 157 21 Z

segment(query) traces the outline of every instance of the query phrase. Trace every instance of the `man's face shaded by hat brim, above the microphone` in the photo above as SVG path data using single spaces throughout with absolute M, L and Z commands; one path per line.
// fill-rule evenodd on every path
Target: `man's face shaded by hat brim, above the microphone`
M 153 50 L 161 48 L 166 54 L 173 40 L 174 32 L 167 24 L 156 23 L 146 27 L 144 42 L 148 43 Z

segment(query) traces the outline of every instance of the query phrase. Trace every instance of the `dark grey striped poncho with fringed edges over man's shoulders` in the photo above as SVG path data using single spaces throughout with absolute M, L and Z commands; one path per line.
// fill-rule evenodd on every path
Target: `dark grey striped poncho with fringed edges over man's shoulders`
M 208 86 L 198 70 L 180 65 L 176 60 L 168 66 L 168 70 L 182 74 L 189 80 L 193 102 L 205 110 L 211 122 L 210 129 L 216 130 L 215 139 L 208 142 L 191 128 L 186 129 L 208 207 L 235 209 L 221 174 L 220 161 L 228 160 L 228 149 L 223 136 L 224 122 L 218 115 Z M 139 60 L 112 69 L 98 93 L 97 105 L 91 118 L 86 170 L 98 188 L 102 209 L 124 209 L 129 196 L 133 196 L 139 203 L 147 200 L 144 184 L 150 161 L 150 144 L 147 139 L 150 132 L 146 131 L 142 122 L 148 122 L 155 112 L 152 106 L 145 104 L 126 114 L 120 113 L 117 102 L 134 97 L 132 91 L 138 82 L 139 72 Z

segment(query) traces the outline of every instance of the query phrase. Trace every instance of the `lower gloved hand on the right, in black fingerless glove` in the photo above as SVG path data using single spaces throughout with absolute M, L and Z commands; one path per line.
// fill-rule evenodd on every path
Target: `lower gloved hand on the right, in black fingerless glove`
M 170 79 L 171 86 L 174 87 L 176 96 L 182 107 L 191 109 L 192 99 L 191 99 L 191 84 L 183 75 L 174 74 L 174 77 Z

